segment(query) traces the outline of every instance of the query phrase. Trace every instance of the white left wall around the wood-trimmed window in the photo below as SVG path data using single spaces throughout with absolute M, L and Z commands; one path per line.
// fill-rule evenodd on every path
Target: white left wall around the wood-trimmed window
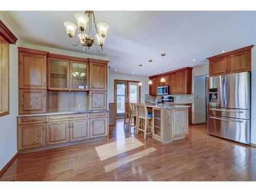
M 18 114 L 18 46 L 25 46 L 24 41 L 9 26 L 3 16 L 0 19 L 18 38 L 16 45 L 10 45 L 10 114 L 0 117 L 0 170 L 17 153 L 17 121 Z

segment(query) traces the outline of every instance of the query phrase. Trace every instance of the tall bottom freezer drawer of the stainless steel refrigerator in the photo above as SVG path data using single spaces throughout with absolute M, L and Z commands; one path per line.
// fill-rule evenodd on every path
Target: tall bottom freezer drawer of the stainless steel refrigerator
M 207 115 L 207 132 L 210 135 L 250 144 L 250 121 L 246 119 Z

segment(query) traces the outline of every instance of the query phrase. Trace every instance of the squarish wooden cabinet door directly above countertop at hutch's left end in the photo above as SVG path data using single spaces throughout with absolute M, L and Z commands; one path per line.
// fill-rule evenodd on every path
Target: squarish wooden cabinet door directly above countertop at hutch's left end
M 46 113 L 46 90 L 19 89 L 19 114 Z

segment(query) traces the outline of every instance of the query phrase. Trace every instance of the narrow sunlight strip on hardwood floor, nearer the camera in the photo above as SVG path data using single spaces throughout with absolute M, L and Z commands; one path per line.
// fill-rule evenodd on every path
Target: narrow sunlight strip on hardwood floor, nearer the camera
M 116 162 L 113 162 L 111 164 L 105 165 L 104 166 L 105 172 L 110 172 L 111 170 L 114 170 L 117 167 L 120 167 L 126 163 L 130 163 L 136 159 L 142 158 L 142 157 L 144 157 L 152 152 L 155 152 L 155 151 L 156 151 L 156 148 L 154 148 L 154 147 L 146 148 L 145 150 L 143 150 L 141 152 L 127 156 L 127 157 L 120 159 Z

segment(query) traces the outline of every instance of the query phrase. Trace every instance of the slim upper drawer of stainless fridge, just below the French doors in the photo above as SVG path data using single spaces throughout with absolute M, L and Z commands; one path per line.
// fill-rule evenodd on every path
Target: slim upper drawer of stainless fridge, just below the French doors
M 249 119 L 250 111 L 241 110 L 241 109 L 227 109 L 227 108 L 207 108 L 207 115 L 231 117 L 231 118 L 238 118 L 238 119 Z

